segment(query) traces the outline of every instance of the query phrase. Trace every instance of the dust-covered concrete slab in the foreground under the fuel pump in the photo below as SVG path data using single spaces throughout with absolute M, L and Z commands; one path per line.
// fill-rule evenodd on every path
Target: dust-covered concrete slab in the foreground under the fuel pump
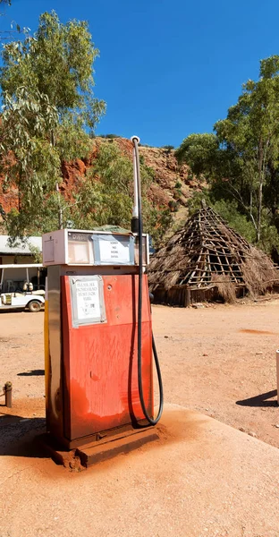
M 1 537 L 279 535 L 279 449 L 206 415 L 165 405 L 159 440 L 80 473 L 15 452 L 28 430 L 0 435 Z

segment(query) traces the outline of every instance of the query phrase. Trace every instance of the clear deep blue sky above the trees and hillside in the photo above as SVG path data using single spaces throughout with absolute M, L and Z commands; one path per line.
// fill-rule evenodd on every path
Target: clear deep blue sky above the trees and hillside
M 259 60 L 279 54 L 278 0 L 12 0 L 11 20 L 31 30 L 40 13 L 89 21 L 100 50 L 95 93 L 107 103 L 97 133 L 179 146 L 210 132 Z

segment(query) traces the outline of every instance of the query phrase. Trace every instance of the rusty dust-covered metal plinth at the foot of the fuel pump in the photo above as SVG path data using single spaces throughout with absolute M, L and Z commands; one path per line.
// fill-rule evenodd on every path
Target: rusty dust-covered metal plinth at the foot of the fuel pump
M 120 432 L 113 437 L 105 437 L 83 446 L 66 451 L 50 434 L 42 434 L 37 441 L 47 450 L 58 465 L 73 471 L 80 471 L 121 453 L 129 453 L 138 447 L 159 439 L 156 428 Z

